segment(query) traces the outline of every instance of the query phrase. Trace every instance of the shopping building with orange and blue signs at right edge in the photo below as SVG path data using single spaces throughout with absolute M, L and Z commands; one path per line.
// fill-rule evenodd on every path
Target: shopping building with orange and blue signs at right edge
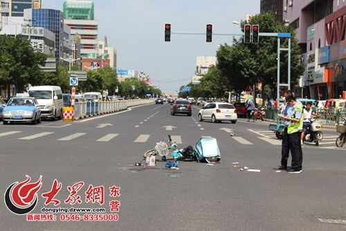
M 306 68 L 302 96 L 333 99 L 346 91 L 345 19 L 345 1 L 284 1 L 284 22 L 296 30 Z

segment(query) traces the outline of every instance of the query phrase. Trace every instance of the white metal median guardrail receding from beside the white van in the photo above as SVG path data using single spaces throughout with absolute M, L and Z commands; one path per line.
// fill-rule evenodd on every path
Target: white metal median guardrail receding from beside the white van
M 154 103 L 152 99 L 135 99 L 129 101 L 86 101 L 75 103 L 74 118 L 83 119 L 100 114 L 109 114 L 126 110 L 127 108 Z

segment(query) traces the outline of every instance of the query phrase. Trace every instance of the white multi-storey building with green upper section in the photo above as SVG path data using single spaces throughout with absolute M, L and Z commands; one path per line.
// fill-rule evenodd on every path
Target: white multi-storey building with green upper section
M 65 23 L 72 35 L 79 35 L 80 53 L 83 58 L 98 56 L 98 21 L 94 18 L 94 3 L 91 0 L 67 0 L 64 2 Z

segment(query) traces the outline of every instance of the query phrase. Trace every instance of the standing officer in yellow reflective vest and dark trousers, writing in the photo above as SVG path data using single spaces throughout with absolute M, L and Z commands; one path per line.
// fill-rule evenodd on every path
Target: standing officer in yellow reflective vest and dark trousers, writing
M 298 102 L 293 95 L 286 98 L 289 104 L 287 116 L 283 117 L 289 124 L 286 129 L 287 138 L 289 142 L 289 151 L 292 155 L 291 169 L 288 173 L 301 173 L 302 172 L 302 145 L 300 143 L 300 135 L 303 127 L 303 108 L 302 103 Z M 287 163 L 287 160 L 286 160 Z M 285 164 L 285 163 L 284 163 Z M 286 165 L 287 166 L 287 165 Z

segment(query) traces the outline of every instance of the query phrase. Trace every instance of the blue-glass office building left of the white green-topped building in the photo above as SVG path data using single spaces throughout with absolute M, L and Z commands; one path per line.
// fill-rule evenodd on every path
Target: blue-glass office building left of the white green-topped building
M 60 10 L 53 9 L 27 9 L 24 18 L 32 26 L 46 28 L 55 34 L 55 58 L 62 63 L 73 55 L 73 41 L 71 29 L 64 24 L 64 15 Z

